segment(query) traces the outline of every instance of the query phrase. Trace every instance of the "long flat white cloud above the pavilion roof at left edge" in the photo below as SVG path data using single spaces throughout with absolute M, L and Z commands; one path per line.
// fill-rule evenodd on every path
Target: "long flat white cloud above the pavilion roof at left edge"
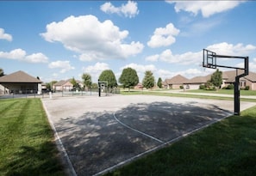
M 47 56 L 45 56 L 41 52 L 27 55 L 27 53 L 20 48 L 12 50 L 10 52 L 0 52 L 0 58 L 20 60 L 28 63 L 47 63 L 48 62 Z

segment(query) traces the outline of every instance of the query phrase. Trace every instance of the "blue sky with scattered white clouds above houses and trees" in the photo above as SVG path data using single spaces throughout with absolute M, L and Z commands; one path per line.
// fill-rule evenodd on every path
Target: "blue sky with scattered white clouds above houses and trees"
M 147 70 L 157 82 L 214 72 L 202 66 L 205 48 L 249 57 L 256 72 L 255 9 L 254 1 L 0 1 L 0 68 L 97 82 L 103 70 L 118 81 L 131 67 L 140 82 Z M 243 67 L 243 59 L 217 64 Z

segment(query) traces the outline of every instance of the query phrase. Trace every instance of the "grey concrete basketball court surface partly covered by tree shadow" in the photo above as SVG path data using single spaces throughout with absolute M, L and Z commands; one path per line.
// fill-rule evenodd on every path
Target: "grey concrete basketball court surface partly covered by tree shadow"
M 231 100 L 153 95 L 42 99 L 72 175 L 100 175 L 234 112 Z M 255 103 L 240 102 L 240 110 Z

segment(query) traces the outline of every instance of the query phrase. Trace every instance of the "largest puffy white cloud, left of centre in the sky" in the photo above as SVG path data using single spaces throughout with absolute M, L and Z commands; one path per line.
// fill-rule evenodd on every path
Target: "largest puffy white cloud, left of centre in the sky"
M 52 22 L 41 36 L 78 52 L 82 61 L 128 58 L 144 48 L 140 42 L 125 43 L 127 30 L 121 31 L 109 20 L 98 21 L 94 15 L 69 16 L 64 21 Z

